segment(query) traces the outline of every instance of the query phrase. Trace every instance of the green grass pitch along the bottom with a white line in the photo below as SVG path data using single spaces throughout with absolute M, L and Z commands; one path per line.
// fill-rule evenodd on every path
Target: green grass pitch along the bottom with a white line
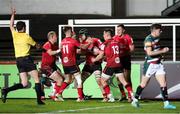
M 77 103 L 72 99 L 64 102 L 45 101 L 46 105 L 38 106 L 35 99 L 8 99 L 0 102 L 0 113 L 180 113 L 180 103 L 173 101 L 175 110 L 163 109 L 161 101 L 141 101 L 141 108 L 134 108 L 130 103 L 102 103 L 94 99 Z

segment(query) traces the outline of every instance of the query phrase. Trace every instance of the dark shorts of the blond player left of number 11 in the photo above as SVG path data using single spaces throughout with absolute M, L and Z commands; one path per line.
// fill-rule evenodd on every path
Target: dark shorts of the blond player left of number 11
M 54 71 L 61 71 L 58 66 L 54 63 L 52 66 L 43 66 L 41 67 L 40 71 L 41 71 L 41 74 L 45 74 L 46 76 L 50 76 Z

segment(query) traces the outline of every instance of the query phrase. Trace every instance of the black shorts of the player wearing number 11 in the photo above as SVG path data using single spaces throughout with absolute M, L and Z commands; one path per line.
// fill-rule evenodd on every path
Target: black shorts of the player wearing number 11
M 74 74 L 80 72 L 80 69 L 77 65 L 73 66 L 63 66 L 64 74 Z

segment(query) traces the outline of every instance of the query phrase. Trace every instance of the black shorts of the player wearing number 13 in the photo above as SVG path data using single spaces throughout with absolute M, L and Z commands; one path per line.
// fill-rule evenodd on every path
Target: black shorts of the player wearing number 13
M 105 67 L 103 73 L 109 76 L 113 76 L 113 74 L 123 73 L 122 67 Z

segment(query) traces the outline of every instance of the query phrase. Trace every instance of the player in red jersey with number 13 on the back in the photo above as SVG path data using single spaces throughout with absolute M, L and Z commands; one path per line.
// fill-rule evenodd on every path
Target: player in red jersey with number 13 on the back
M 108 102 L 114 102 L 114 97 L 110 92 L 110 87 L 107 83 L 109 78 L 115 74 L 118 80 L 126 87 L 127 91 L 133 97 L 133 92 L 131 86 L 126 82 L 124 78 L 123 69 L 120 62 L 120 45 L 118 42 L 112 38 L 113 31 L 111 29 L 104 30 L 103 36 L 105 42 L 101 46 L 101 54 L 94 59 L 94 62 L 100 60 L 105 55 L 107 64 L 103 70 L 101 82 L 104 88 L 104 91 L 109 99 Z

